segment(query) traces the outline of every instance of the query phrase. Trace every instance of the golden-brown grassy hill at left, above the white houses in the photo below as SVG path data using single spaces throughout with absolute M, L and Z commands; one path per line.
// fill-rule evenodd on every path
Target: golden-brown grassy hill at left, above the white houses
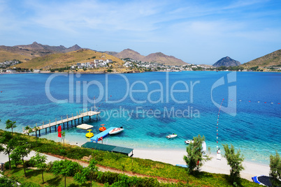
M 49 68 L 64 68 L 66 66 L 73 66 L 76 63 L 85 63 L 94 61 L 94 59 L 112 59 L 117 63 L 113 63 L 113 67 L 122 66 L 123 61 L 117 57 L 113 57 L 109 54 L 94 52 L 92 50 L 77 50 L 74 52 L 48 54 L 44 57 L 36 57 L 30 61 L 17 64 L 18 68 L 36 68 L 48 70 Z

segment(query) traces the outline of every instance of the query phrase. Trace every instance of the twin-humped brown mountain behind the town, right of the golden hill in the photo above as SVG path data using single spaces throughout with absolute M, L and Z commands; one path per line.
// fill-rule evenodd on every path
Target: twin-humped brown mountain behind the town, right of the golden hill
M 177 59 L 173 56 L 168 56 L 161 52 L 152 53 L 152 54 L 147 55 L 146 57 L 139 54 L 138 52 L 136 52 L 134 50 L 130 50 L 130 49 L 122 50 L 122 52 L 119 52 L 117 54 L 113 54 L 113 53 L 111 53 L 111 54 L 120 59 L 131 58 L 131 59 L 135 59 L 138 61 L 151 61 L 151 62 L 163 63 L 163 64 L 171 65 L 171 66 L 173 66 L 173 65 L 181 66 L 181 65 L 187 64 L 180 59 Z

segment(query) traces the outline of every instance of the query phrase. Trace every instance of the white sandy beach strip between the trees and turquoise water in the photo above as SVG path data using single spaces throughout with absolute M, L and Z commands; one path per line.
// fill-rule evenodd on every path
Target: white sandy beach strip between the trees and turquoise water
M 183 156 L 187 152 L 184 150 L 144 150 L 144 149 L 134 149 L 134 157 L 145 158 L 150 160 L 156 160 L 163 163 L 170 163 L 172 165 L 184 164 Z M 226 158 L 222 157 L 222 160 L 217 160 L 216 155 L 211 155 L 212 160 L 207 161 L 201 167 L 201 171 L 218 173 L 218 174 L 230 174 L 230 167 L 227 165 Z M 263 165 L 260 163 L 251 163 L 244 161 L 243 166 L 245 170 L 240 172 L 240 177 L 252 181 L 252 177 L 257 175 L 267 175 L 269 174 L 269 165 Z

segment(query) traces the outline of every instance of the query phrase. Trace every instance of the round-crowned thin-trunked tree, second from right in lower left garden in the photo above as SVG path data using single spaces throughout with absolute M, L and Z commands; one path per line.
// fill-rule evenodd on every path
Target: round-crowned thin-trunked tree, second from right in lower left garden
M 81 170 L 81 165 L 71 160 L 56 160 L 52 165 L 52 172 L 54 174 L 62 174 L 64 176 L 64 186 L 66 186 L 66 177 L 74 176 L 79 170 Z

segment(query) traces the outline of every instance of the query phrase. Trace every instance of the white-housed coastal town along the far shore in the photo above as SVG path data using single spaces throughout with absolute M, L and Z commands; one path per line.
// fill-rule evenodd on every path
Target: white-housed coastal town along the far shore
M 147 62 L 147 61 L 138 61 L 131 58 L 122 59 L 124 64 L 123 67 L 120 68 L 129 68 L 129 70 L 136 71 L 136 72 L 145 72 L 145 71 L 193 71 L 193 70 L 236 70 L 236 71 L 281 71 L 281 67 L 273 66 L 273 67 L 251 67 L 251 68 L 243 68 L 241 66 L 211 66 L 211 65 L 198 65 L 194 63 L 187 63 L 186 65 L 182 66 L 170 66 L 165 65 L 162 63 L 157 62 Z M 13 61 L 3 61 L 0 62 L 0 72 L 1 73 L 18 73 L 18 72 L 27 72 L 27 73 L 52 73 L 56 70 L 59 72 L 68 72 L 68 71 L 78 71 L 78 70 L 94 70 L 94 69 L 106 69 L 104 73 L 111 73 L 113 72 L 113 64 L 116 63 L 112 59 L 94 59 L 92 61 L 87 61 L 85 63 L 75 63 L 72 66 L 67 66 L 65 68 L 56 68 L 49 70 L 43 69 L 27 69 L 27 68 L 16 68 L 13 67 L 18 63 L 22 63 L 21 61 L 13 60 Z

